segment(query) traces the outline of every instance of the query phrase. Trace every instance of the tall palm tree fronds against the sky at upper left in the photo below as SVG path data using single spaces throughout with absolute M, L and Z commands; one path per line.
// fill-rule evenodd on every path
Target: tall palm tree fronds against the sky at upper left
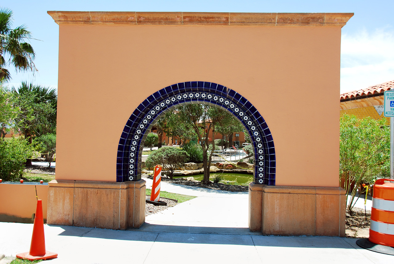
M 35 52 L 32 46 L 24 42 L 30 38 L 30 32 L 22 25 L 11 29 L 12 11 L 0 9 L 0 80 L 10 80 L 11 75 L 5 68 L 13 65 L 17 71 L 37 71 L 33 63 Z M 9 56 L 8 61 L 4 58 Z

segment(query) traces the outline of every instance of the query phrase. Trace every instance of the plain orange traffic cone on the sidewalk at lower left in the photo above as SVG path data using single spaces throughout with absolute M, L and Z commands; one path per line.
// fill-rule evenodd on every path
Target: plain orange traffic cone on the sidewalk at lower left
M 30 251 L 17 254 L 17 258 L 26 258 L 28 260 L 46 260 L 48 258 L 57 257 L 58 253 L 53 253 L 45 250 L 43 201 L 37 200 L 37 208 L 35 209 L 32 244 L 30 244 Z

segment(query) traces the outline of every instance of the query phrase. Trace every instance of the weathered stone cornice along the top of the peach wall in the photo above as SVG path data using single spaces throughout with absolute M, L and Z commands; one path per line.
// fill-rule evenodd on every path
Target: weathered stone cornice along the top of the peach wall
M 200 13 L 48 11 L 61 24 L 344 26 L 354 13 Z

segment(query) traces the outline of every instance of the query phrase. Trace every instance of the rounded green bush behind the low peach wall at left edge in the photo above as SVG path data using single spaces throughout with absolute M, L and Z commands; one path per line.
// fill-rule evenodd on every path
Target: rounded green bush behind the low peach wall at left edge
M 0 139 L 0 178 L 4 181 L 19 180 L 23 176 L 26 159 L 32 154 L 32 146 L 26 139 Z

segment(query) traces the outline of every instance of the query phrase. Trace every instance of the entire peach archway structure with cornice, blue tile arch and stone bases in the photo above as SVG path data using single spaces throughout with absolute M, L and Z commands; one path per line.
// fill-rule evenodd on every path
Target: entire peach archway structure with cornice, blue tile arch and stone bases
M 242 120 L 258 162 L 262 154 L 249 185 L 251 231 L 345 235 L 338 94 L 352 13 L 48 14 L 59 24 L 48 223 L 140 227 L 143 134 L 166 109 L 204 102 Z

